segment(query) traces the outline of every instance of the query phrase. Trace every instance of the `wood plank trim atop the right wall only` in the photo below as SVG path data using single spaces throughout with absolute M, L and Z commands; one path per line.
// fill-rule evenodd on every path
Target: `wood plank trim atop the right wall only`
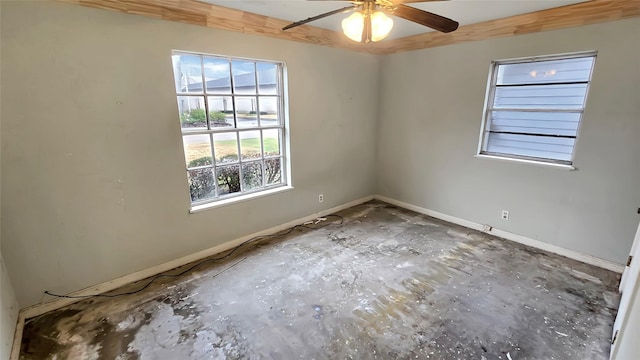
M 589 2 L 461 26 L 458 30 L 448 34 L 433 31 L 373 45 L 375 45 L 378 53 L 392 54 L 469 41 L 623 20 L 637 16 L 640 16 L 640 0 L 591 0 Z

